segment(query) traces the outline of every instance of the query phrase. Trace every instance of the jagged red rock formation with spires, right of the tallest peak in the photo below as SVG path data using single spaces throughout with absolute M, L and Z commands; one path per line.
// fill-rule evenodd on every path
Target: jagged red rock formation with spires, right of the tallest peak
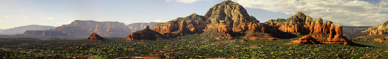
M 270 26 L 293 34 L 314 34 L 321 43 L 352 44 L 353 42 L 343 36 L 342 25 L 334 26 L 331 21 L 322 21 L 322 18 L 312 19 L 301 12 L 288 19 L 276 19 L 265 22 Z M 325 38 L 325 35 L 329 37 Z

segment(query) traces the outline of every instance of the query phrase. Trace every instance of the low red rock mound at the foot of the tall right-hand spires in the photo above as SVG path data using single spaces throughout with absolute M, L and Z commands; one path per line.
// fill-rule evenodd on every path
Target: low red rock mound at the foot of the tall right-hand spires
M 291 44 L 321 44 L 319 41 L 315 40 L 314 37 L 306 35 L 298 40 L 290 42 Z

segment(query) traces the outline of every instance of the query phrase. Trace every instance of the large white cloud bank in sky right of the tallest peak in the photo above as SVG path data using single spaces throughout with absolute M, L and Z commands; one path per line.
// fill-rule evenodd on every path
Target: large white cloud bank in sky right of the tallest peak
M 388 3 L 360 0 L 232 0 L 243 7 L 258 8 L 293 15 L 298 11 L 313 18 L 355 26 L 375 26 L 388 20 Z M 386 1 L 386 0 L 384 0 Z

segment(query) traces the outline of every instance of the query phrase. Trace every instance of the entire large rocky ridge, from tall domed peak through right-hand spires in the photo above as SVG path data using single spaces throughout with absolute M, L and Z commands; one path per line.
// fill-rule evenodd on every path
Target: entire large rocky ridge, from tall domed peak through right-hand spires
M 246 10 L 230 0 L 218 3 L 204 16 L 193 13 L 184 18 L 177 18 L 166 23 L 155 25 L 153 31 L 162 33 L 169 38 L 177 38 L 186 34 L 201 34 L 215 39 L 233 39 L 242 36 L 251 40 L 267 39 L 274 36 L 316 34 L 322 43 L 352 44 L 343 37 L 342 25 L 335 26 L 331 21 L 322 18 L 312 19 L 298 12 L 288 19 L 269 20 L 260 23 L 255 17 L 249 16 Z M 329 36 L 329 37 L 327 37 Z

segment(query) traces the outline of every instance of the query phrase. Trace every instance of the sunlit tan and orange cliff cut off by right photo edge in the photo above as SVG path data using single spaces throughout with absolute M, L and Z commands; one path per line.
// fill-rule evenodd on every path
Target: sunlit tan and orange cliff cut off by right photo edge
M 368 30 L 361 31 L 360 36 L 377 35 L 377 34 L 388 34 L 388 21 L 384 22 L 381 25 L 368 28 Z

